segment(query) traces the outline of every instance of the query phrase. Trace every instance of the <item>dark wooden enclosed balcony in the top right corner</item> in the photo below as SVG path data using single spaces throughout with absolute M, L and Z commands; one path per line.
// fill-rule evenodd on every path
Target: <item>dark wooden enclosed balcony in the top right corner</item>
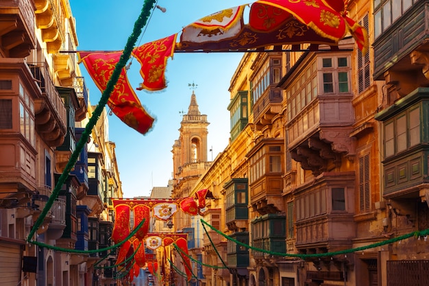
M 373 43 L 377 63 L 374 78 L 395 85 L 400 97 L 429 84 L 428 3 L 414 1 L 389 27 L 377 29 L 380 35 L 376 34 Z

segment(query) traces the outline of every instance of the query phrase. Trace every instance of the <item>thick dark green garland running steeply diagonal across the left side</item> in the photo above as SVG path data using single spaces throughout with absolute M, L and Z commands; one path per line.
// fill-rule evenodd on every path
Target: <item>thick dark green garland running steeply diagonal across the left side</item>
M 116 67 L 114 67 L 112 76 L 107 83 L 106 89 L 103 91 L 101 95 L 99 104 L 97 105 L 97 108 L 95 108 L 92 117 L 90 117 L 88 123 L 86 124 L 85 130 L 82 133 L 82 137 L 80 138 L 79 142 L 76 144 L 75 151 L 73 152 L 73 154 L 71 154 L 69 162 L 64 168 L 64 171 L 62 172 L 60 178 L 58 178 L 58 182 L 55 188 L 53 189 L 52 194 L 45 205 L 45 208 L 43 208 L 42 213 L 40 213 L 39 217 L 36 219 L 36 222 L 34 223 L 32 230 L 30 230 L 29 235 L 27 237 L 27 241 L 32 242 L 32 237 L 34 236 L 34 233 L 36 233 L 36 230 L 38 230 L 38 228 L 42 224 L 43 219 L 45 219 L 48 211 L 51 209 L 53 202 L 56 200 L 56 198 L 58 198 L 60 189 L 64 184 L 64 182 L 66 181 L 66 179 L 69 177 L 69 173 L 71 169 L 73 169 L 73 167 L 75 166 L 77 158 L 79 158 L 80 152 L 82 152 L 84 145 L 88 141 L 88 137 L 91 134 L 95 126 L 95 123 L 97 123 L 101 115 L 101 112 L 103 112 L 103 108 L 104 106 L 106 106 L 108 102 L 110 93 L 112 93 L 114 85 L 117 84 L 119 80 L 119 75 L 121 75 L 122 69 L 125 67 L 125 64 L 127 64 L 127 61 L 130 59 L 132 49 L 134 48 L 134 45 L 138 40 L 138 37 L 140 36 L 143 27 L 146 25 L 147 19 L 149 19 L 151 10 L 154 8 L 155 2 L 156 0 L 145 0 L 145 3 L 143 4 L 143 8 L 140 12 L 140 16 L 138 16 L 136 23 L 134 23 L 133 32 L 130 35 L 130 37 L 128 37 L 127 44 L 125 45 L 125 49 L 123 50 L 121 58 L 119 59 L 119 62 L 117 63 Z M 88 253 L 91 253 L 91 252 L 88 252 Z

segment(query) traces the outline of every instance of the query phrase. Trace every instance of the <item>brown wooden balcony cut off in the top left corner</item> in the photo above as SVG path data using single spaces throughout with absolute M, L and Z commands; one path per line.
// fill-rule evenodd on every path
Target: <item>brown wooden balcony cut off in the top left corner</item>
M 0 55 L 25 58 L 35 45 L 34 1 L 0 1 Z

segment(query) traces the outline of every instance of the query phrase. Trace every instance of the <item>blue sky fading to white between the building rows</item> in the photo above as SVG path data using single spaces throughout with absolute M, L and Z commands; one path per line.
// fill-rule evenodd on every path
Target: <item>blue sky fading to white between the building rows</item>
M 250 1 L 251 2 L 251 1 Z M 70 0 L 76 19 L 79 50 L 121 50 L 127 43 L 143 7 L 143 1 L 132 0 Z M 159 0 L 165 13 L 155 9 L 136 45 L 178 33 L 182 27 L 203 16 L 225 8 L 249 3 L 237 0 Z M 179 138 L 182 114 L 187 112 L 195 83 L 195 95 L 201 114 L 208 117 L 209 160 L 228 145 L 230 137 L 230 103 L 228 88 L 242 53 L 176 53 L 167 62 L 168 86 L 157 93 L 136 91 L 140 102 L 156 123 L 151 132 L 139 134 L 114 115 L 109 117 L 110 141 L 116 143 L 117 164 L 123 184 L 124 198 L 149 195 L 152 187 L 166 187 L 173 173 L 174 141 Z M 132 61 L 128 78 L 132 86 L 142 82 L 140 64 Z M 99 102 L 101 92 L 81 64 L 90 89 L 90 101 Z

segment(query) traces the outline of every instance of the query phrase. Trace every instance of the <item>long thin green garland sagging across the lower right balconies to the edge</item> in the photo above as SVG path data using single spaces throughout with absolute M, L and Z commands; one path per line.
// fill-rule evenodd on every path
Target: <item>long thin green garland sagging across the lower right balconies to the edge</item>
M 372 243 L 369 244 L 368 246 L 360 246 L 358 248 L 350 248 L 350 249 L 346 249 L 346 250 L 340 250 L 340 251 L 334 251 L 334 252 L 326 252 L 326 253 L 315 253 L 315 254 L 290 254 L 290 253 L 282 253 L 282 252 L 273 252 L 273 251 L 269 251 L 269 250 L 265 250 L 265 249 L 261 249 L 261 248 L 255 248 L 253 246 L 249 246 L 246 243 L 243 243 L 241 241 L 238 241 L 236 239 L 233 239 L 232 237 L 225 235 L 225 233 L 222 233 L 220 230 L 214 228 L 213 226 L 211 226 L 210 224 L 208 224 L 207 222 L 204 221 L 204 219 L 201 219 L 201 223 L 206 224 L 206 226 L 210 227 L 212 230 L 215 230 L 215 232 L 219 233 L 219 235 L 222 235 L 223 237 L 225 237 L 226 239 L 229 239 L 230 241 L 234 241 L 235 243 L 237 243 L 240 246 L 244 246 L 245 248 L 249 248 L 252 250 L 256 250 L 258 252 L 264 252 L 264 253 L 268 253 L 271 255 L 277 255 L 280 257 L 298 257 L 300 259 L 307 259 L 307 258 L 312 258 L 312 257 L 333 257 L 334 255 L 339 255 L 339 254 L 347 254 L 347 253 L 352 253 L 352 252 L 358 252 L 358 251 L 363 251 L 363 250 L 367 250 L 370 248 L 376 248 L 378 246 L 385 246 L 387 244 L 396 242 L 396 241 L 401 241 L 404 239 L 408 239 L 410 237 L 427 237 L 429 235 L 429 228 L 427 228 L 426 230 L 420 230 L 420 231 L 414 231 L 412 233 L 407 233 L 406 235 L 400 235 L 399 237 L 394 237 L 393 239 L 388 239 L 385 241 L 380 241 L 377 243 Z

